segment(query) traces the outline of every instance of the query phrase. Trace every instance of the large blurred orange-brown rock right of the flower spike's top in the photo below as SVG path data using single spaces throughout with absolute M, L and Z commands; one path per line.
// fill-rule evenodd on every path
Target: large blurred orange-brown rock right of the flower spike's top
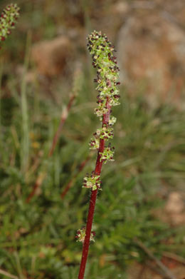
M 142 85 L 147 101 L 181 104 L 185 76 L 184 30 L 163 13 L 127 18 L 117 39 L 121 80 L 132 92 Z

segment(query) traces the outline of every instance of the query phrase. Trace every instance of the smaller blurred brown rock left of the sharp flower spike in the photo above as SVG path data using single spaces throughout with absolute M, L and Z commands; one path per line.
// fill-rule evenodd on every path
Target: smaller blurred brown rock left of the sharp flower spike
M 31 50 L 31 60 L 38 73 L 56 76 L 63 73 L 69 59 L 73 56 L 73 44 L 67 36 L 59 36 L 52 41 L 41 41 Z

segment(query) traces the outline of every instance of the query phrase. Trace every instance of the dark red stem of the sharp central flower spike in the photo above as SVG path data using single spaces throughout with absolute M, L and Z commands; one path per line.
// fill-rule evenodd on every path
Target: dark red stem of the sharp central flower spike
M 110 103 L 109 103 L 109 98 L 107 97 L 107 102 L 106 102 L 106 108 L 107 113 L 104 114 L 103 119 L 102 119 L 102 126 L 108 124 L 109 119 L 110 119 Z M 105 140 L 100 138 L 100 147 L 97 151 L 97 161 L 95 165 L 95 175 L 100 176 L 101 171 L 102 171 L 102 161 L 100 161 L 101 155 L 104 151 L 105 148 Z M 90 196 L 90 205 L 89 205 L 89 211 L 88 211 L 88 220 L 86 224 L 86 230 L 85 230 L 85 240 L 83 243 L 83 253 L 82 253 L 82 258 L 81 258 L 81 263 L 80 263 L 80 270 L 78 274 L 78 279 L 83 279 L 84 278 L 84 273 L 85 273 L 85 266 L 88 260 L 88 251 L 89 251 L 89 246 L 90 246 L 90 234 L 92 230 L 92 225 L 93 225 L 93 217 L 94 217 L 94 212 L 95 212 L 95 203 L 96 203 L 96 198 L 97 198 L 97 191 L 98 190 L 92 190 L 91 191 L 91 196 Z

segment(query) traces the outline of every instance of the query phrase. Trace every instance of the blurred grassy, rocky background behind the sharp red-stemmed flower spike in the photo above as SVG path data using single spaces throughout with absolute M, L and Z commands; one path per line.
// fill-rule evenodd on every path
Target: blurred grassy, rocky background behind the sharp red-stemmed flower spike
M 20 19 L 0 53 L 0 278 L 78 277 L 75 234 L 90 196 L 82 183 L 100 127 L 86 49 L 95 29 L 117 50 L 121 105 L 86 278 L 183 279 L 184 1 L 15 3 Z

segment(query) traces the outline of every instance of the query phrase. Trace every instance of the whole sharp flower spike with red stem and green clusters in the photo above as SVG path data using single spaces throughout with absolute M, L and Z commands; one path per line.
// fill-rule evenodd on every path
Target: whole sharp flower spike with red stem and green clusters
M 94 81 L 97 83 L 97 108 L 95 113 L 102 121 L 102 128 L 97 129 L 94 133 L 94 138 L 91 139 L 90 149 L 97 150 L 97 161 L 95 164 L 95 171 L 91 175 L 85 176 L 83 179 L 83 187 L 91 189 L 90 205 L 88 211 L 88 220 L 86 228 L 78 230 L 76 238 L 83 243 L 83 254 L 80 263 L 80 271 L 78 279 L 84 278 L 85 266 L 88 259 L 88 250 L 90 240 L 94 241 L 95 233 L 92 232 L 93 216 L 95 212 L 95 203 L 97 198 L 97 191 L 101 190 L 100 175 L 102 171 L 102 163 L 107 161 L 114 161 L 114 147 L 110 143 L 106 144 L 113 138 L 112 126 L 116 122 L 114 116 L 110 116 L 111 107 L 117 106 L 119 102 L 120 84 L 118 81 L 120 69 L 117 66 L 116 57 L 113 54 L 115 47 L 112 46 L 105 34 L 93 31 L 88 36 L 88 50 L 92 55 L 93 67 L 97 69 L 97 78 Z

